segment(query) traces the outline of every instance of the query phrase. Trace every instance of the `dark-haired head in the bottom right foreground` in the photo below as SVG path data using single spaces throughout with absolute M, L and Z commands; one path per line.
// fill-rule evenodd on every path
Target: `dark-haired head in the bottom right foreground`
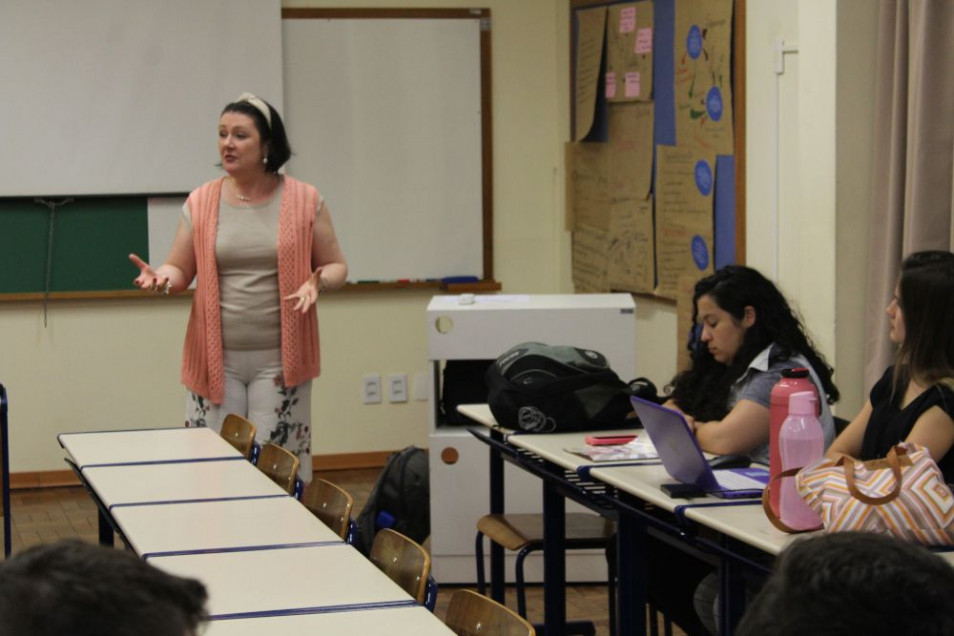
M 737 636 L 954 634 L 954 568 L 891 537 L 834 533 L 796 541 L 750 604 Z

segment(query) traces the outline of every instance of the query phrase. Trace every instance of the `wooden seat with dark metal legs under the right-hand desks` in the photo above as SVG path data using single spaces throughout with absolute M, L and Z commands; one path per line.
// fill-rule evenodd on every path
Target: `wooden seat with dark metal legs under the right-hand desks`
M 517 553 L 514 563 L 517 592 L 517 614 L 527 616 L 527 596 L 523 577 L 523 562 L 531 552 L 543 550 L 542 514 L 487 514 L 477 520 L 477 589 L 485 592 L 484 536 L 505 550 Z M 613 522 L 587 512 L 566 514 L 566 549 L 602 549 L 606 551 L 609 585 L 610 634 L 616 634 L 616 527 Z M 591 634 L 588 621 L 568 623 L 568 632 Z

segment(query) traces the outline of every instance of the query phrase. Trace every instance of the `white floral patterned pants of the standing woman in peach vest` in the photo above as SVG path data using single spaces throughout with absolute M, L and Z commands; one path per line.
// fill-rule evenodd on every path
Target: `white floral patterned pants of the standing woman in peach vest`
M 274 442 L 298 455 L 298 476 L 311 481 L 311 380 L 286 387 L 281 350 L 226 351 L 222 404 L 186 395 L 186 426 L 222 430 L 222 420 L 238 413 L 251 421 L 259 444 Z

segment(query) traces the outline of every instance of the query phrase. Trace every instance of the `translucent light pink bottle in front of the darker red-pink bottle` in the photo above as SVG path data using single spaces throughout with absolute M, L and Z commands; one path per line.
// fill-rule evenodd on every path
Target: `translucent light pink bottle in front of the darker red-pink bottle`
M 789 397 L 788 417 L 778 432 L 778 449 L 782 456 L 782 470 L 801 468 L 821 459 L 825 452 L 825 433 L 815 416 L 818 398 L 811 391 L 793 393 Z M 795 477 L 781 480 L 779 517 L 796 530 L 807 530 L 821 525 L 812 509 L 795 489 Z

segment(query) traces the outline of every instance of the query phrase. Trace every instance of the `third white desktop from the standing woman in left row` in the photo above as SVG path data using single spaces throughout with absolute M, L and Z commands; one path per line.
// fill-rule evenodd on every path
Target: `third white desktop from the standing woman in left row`
M 117 506 L 112 516 L 136 554 L 341 542 L 294 497 Z

